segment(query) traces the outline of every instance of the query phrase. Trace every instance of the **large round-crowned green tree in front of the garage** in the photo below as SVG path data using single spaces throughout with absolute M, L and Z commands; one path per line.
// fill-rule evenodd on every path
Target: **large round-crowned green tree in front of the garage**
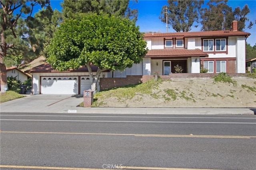
M 91 14 L 61 23 L 47 48 L 47 61 L 59 71 L 87 66 L 92 90 L 104 70 L 124 70 L 140 63 L 146 42 L 139 27 L 127 18 Z M 96 76 L 92 67 L 98 66 Z

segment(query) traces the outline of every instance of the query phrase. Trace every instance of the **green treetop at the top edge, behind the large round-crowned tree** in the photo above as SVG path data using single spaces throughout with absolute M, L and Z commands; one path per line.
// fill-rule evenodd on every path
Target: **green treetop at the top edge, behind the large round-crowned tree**
M 135 0 L 137 2 L 137 0 Z M 63 19 L 84 16 L 88 12 L 109 14 L 137 20 L 138 10 L 128 7 L 129 0 L 64 0 L 61 4 Z

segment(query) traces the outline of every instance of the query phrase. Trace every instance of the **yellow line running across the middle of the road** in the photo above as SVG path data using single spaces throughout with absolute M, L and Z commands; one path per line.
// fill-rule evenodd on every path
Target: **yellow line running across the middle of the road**
M 123 134 L 123 133 L 71 133 L 71 132 L 18 132 L 18 131 L 0 131 L 0 133 L 35 133 L 35 134 L 66 134 L 66 135 L 121 135 L 135 137 L 199 137 L 199 138 L 238 138 L 250 139 L 256 136 L 223 136 L 223 135 L 160 135 L 160 134 Z

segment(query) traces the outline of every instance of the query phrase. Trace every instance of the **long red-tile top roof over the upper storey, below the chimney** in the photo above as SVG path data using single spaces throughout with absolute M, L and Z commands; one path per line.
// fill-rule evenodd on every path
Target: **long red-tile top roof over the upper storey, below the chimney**
M 250 33 L 242 31 L 198 31 L 198 32 L 176 32 L 176 33 L 145 33 L 144 38 L 147 37 L 221 37 L 221 36 L 239 36 L 244 35 L 248 37 Z

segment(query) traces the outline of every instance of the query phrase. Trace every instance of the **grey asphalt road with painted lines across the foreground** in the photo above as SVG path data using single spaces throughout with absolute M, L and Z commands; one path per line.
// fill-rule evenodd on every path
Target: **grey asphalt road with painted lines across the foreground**
M 0 130 L 1 169 L 256 167 L 255 115 L 1 113 Z

